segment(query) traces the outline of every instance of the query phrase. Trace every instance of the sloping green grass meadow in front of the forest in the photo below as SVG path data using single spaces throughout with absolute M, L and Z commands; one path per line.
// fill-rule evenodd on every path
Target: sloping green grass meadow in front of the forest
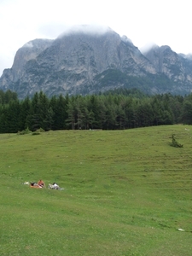
M 192 254 L 189 125 L 0 134 L 0 177 L 1 255 Z

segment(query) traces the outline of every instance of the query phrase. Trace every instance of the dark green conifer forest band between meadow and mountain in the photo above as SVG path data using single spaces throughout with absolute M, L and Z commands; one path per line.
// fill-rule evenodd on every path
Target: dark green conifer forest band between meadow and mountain
M 123 130 L 152 125 L 192 125 L 192 94 L 148 96 L 137 89 L 87 96 L 52 96 L 43 91 L 19 100 L 0 90 L 0 133 L 49 130 Z

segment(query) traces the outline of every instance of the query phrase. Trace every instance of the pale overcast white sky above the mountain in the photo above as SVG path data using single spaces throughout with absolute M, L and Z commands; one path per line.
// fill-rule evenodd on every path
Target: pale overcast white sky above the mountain
M 0 75 L 35 38 L 57 38 L 67 26 L 109 26 L 139 49 L 169 45 L 192 53 L 191 0 L 0 0 Z

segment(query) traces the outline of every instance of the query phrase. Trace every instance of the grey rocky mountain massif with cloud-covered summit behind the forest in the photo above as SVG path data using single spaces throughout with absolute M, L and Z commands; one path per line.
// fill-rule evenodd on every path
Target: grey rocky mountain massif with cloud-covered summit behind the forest
M 24 44 L 0 78 L 0 89 L 13 90 L 19 98 L 40 90 L 53 96 L 119 87 L 187 94 L 192 90 L 192 58 L 169 46 L 154 45 L 142 53 L 110 28 L 74 26 L 55 40 Z

